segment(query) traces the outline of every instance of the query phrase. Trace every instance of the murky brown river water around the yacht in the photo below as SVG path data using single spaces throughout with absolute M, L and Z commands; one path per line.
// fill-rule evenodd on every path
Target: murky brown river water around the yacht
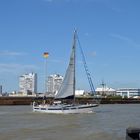
M 53 115 L 0 106 L 0 140 L 125 140 L 140 128 L 140 104 L 100 105 L 90 114 Z

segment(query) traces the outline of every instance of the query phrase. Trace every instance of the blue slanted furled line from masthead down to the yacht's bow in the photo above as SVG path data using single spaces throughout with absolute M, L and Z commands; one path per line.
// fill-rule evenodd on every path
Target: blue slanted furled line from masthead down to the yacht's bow
M 78 34 L 77 34 L 77 40 L 78 40 L 79 48 L 80 48 L 80 51 L 81 51 L 81 54 L 82 54 L 82 60 L 83 60 L 84 68 L 85 68 L 86 75 L 87 75 L 87 78 L 88 78 L 88 82 L 89 82 L 89 85 L 90 85 L 90 88 L 91 88 L 91 92 L 94 95 L 95 94 L 95 88 L 94 88 L 94 85 L 93 85 L 93 82 L 92 82 L 90 72 L 89 72 L 88 67 L 87 67 L 85 55 L 84 55 L 81 43 L 80 43 L 79 38 L 78 38 Z

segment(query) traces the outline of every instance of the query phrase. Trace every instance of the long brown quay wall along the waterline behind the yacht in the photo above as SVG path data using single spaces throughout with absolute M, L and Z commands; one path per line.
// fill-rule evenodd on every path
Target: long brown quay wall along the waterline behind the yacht
M 43 98 L 38 97 L 0 97 L 0 105 L 31 105 L 33 101 L 42 102 Z M 76 98 L 76 103 L 94 103 L 93 98 Z M 140 104 L 140 99 L 113 99 L 103 98 L 96 100 L 100 104 Z M 46 103 L 52 103 L 52 98 L 46 98 Z M 63 102 L 71 103 L 72 100 L 63 100 Z

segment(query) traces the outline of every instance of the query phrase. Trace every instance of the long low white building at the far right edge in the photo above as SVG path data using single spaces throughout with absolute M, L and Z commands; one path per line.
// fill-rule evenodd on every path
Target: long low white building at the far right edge
M 116 91 L 117 95 L 127 98 L 135 98 L 140 97 L 140 89 L 139 88 L 120 88 Z

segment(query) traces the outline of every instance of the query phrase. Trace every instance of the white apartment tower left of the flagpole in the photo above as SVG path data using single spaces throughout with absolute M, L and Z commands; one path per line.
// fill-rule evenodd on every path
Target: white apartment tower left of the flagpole
M 19 91 L 26 95 L 37 93 L 37 74 L 28 73 L 19 77 Z

